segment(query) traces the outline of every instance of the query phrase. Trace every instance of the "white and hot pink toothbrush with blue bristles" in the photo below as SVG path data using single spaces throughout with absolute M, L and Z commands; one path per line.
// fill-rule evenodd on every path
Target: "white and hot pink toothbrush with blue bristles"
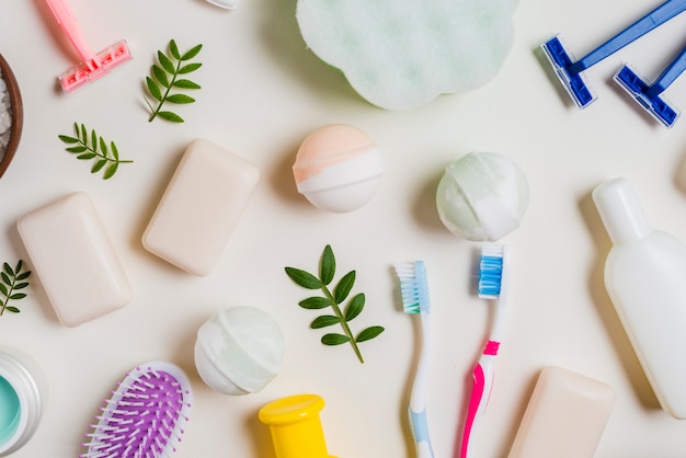
M 506 245 L 485 245 L 481 249 L 479 297 L 495 300 L 496 309 L 491 335 L 473 369 L 473 385 L 462 432 L 460 458 L 472 456 L 469 448 L 470 439 L 479 426 L 493 387 L 493 365 L 500 347 L 503 316 L 507 304 L 508 264 L 510 249 Z

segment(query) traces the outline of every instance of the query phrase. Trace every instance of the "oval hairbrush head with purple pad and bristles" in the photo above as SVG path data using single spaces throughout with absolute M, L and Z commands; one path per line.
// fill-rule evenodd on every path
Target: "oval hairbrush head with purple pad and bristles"
M 188 421 L 191 383 L 164 362 L 140 365 L 117 383 L 100 408 L 80 458 L 160 458 L 175 451 Z

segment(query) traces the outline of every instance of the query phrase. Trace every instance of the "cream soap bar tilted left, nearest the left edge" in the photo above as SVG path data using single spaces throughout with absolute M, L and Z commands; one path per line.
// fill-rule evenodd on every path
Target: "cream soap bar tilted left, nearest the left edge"
M 130 283 L 88 194 L 30 211 L 16 226 L 62 324 L 82 324 L 132 300 Z

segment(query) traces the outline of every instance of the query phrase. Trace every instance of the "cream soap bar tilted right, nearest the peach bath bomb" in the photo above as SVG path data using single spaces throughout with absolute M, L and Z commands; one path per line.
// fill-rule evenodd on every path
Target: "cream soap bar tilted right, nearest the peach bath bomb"
M 251 163 L 208 140 L 193 140 L 148 224 L 144 247 L 193 275 L 209 275 L 259 180 Z

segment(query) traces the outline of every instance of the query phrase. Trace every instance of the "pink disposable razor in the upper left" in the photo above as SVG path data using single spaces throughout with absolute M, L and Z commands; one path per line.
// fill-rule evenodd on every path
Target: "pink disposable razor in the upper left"
M 94 54 L 81 35 L 79 25 L 67 2 L 64 0 L 46 0 L 46 2 L 50 7 L 57 23 L 81 57 L 81 62 L 78 66 L 67 70 L 59 77 L 59 82 L 66 93 L 76 91 L 87 82 L 95 81 L 113 68 L 130 60 L 132 55 L 124 39 Z

